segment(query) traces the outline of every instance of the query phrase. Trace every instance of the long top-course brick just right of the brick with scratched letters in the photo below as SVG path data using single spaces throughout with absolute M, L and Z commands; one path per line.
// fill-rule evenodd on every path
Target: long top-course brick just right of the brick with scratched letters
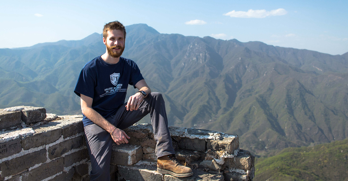
M 40 125 L 33 127 L 33 130 L 35 132 L 33 135 L 23 137 L 21 141 L 24 150 L 53 143 L 62 135 L 62 130 L 58 126 Z

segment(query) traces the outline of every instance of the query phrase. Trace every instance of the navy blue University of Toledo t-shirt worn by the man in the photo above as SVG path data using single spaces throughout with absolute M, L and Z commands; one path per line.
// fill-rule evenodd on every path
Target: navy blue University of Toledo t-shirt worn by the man
M 128 84 L 134 86 L 144 79 L 132 60 L 120 57 L 116 64 L 108 64 L 101 56 L 89 61 L 82 68 L 74 92 L 93 98 L 92 108 L 104 118 L 116 113 L 125 103 Z M 85 115 L 84 126 L 93 124 Z

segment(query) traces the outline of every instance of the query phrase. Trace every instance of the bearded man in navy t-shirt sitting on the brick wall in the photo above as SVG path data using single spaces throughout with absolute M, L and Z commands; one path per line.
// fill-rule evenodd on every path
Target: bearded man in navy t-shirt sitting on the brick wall
M 126 30 L 118 21 L 105 24 L 105 54 L 88 62 L 81 70 L 74 92 L 80 96 L 87 148 L 92 164 L 90 180 L 110 180 L 112 143 L 128 143 L 122 131 L 150 113 L 156 140 L 157 172 L 186 177 L 191 168 L 175 158 L 163 97 L 151 93 L 138 66 L 121 57 L 125 48 Z M 129 85 L 139 92 L 125 102 Z

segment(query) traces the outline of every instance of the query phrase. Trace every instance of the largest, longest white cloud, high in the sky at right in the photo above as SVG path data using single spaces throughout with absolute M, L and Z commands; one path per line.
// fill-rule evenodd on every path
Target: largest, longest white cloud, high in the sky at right
M 233 10 L 223 15 L 236 17 L 236 18 L 265 18 L 267 16 L 281 16 L 285 14 L 287 14 L 287 11 L 283 8 L 279 8 L 279 9 L 274 9 L 271 11 L 266 11 L 265 9 L 261 9 L 261 10 L 249 9 L 248 11 Z

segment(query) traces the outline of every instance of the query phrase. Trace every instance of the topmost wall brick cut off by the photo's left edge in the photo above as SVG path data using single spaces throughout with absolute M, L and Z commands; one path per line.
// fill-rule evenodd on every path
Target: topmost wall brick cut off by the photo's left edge
M 0 129 L 16 126 L 22 121 L 21 111 L 3 111 L 0 109 Z

